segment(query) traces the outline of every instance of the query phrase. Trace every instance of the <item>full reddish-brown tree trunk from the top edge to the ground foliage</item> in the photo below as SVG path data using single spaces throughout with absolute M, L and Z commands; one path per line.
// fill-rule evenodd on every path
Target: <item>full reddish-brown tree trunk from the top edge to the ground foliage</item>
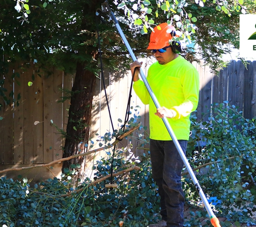
M 103 0 L 85 0 L 83 2 L 81 27 L 77 31 L 77 34 L 85 31 L 85 33 L 80 35 L 81 44 L 88 40 L 98 39 L 97 36 L 93 37 L 92 34 L 96 34 L 95 12 L 102 3 Z M 92 101 L 96 82 L 96 76 L 93 73 L 95 68 L 93 67 L 97 67 L 97 51 L 98 47 L 94 46 L 92 42 L 92 44 L 82 45 L 78 52 L 80 59 L 84 58 L 85 60 L 84 62 L 80 60 L 77 63 L 70 110 L 68 112 L 63 158 L 87 151 L 87 146 L 85 145 L 88 143 L 91 125 Z M 84 159 L 80 157 L 63 162 L 62 172 L 64 172 L 64 168 L 70 169 L 71 164 L 85 164 Z M 83 178 L 83 167 L 80 168 L 78 175 L 79 178 Z

